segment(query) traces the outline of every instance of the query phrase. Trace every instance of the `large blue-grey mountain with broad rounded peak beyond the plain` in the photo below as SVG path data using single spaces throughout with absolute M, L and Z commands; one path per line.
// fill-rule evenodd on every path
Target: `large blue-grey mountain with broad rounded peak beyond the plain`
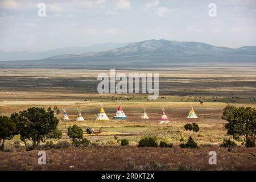
M 256 63 L 256 46 L 216 47 L 200 42 L 145 40 L 108 51 L 63 54 L 46 59 L 23 61 L 33 64 L 88 65 L 169 65 L 205 63 Z

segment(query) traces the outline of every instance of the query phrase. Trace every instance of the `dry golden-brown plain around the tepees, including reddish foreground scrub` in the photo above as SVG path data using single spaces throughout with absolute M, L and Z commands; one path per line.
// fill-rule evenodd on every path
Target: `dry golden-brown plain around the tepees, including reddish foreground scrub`
M 98 94 L 97 75 L 109 70 L 92 69 L 0 69 L 0 114 L 39 106 L 57 106 L 67 109 L 69 122 L 57 115 L 61 140 L 70 141 L 67 127 L 79 125 L 101 127 L 100 134 L 84 134 L 92 141 L 85 148 L 46 150 L 47 164 L 38 164 L 38 151 L 14 148 L 19 136 L 6 142 L 7 151 L 0 152 L 0 169 L 164 169 L 164 170 L 256 170 L 256 148 L 238 147 L 229 150 L 219 144 L 230 137 L 221 119 L 228 104 L 256 106 L 256 68 L 254 67 L 195 67 L 165 69 L 116 70 L 116 73 L 159 73 L 159 98 L 148 100 L 148 94 Z M 112 119 L 117 110 L 117 99 L 123 101 L 122 109 L 128 119 Z M 200 104 L 200 100 L 204 103 Z M 96 121 L 100 103 L 104 103 L 110 121 Z M 193 104 L 198 119 L 187 119 Z M 139 119 L 146 106 L 150 119 Z M 159 124 L 161 107 L 166 106 L 169 123 Z M 76 107 L 82 107 L 85 122 L 76 122 Z M 200 130 L 192 133 L 199 149 L 180 148 L 180 138 L 187 139 L 185 123 L 196 122 Z M 137 147 L 143 135 L 158 135 L 174 143 L 173 148 Z M 127 138 L 130 146 L 120 146 L 114 139 Z M 57 141 L 53 140 L 53 143 Z M 21 143 L 22 144 L 22 143 Z M 209 151 L 217 152 L 217 165 L 208 164 Z M 73 166 L 73 167 L 71 167 Z

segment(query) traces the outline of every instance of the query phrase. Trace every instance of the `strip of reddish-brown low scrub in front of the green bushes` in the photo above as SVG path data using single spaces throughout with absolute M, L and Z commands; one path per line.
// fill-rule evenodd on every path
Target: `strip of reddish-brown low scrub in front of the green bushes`
M 256 170 L 255 148 L 244 146 L 44 148 L 46 165 L 38 164 L 38 151 L 0 151 L 0 170 Z M 209 151 L 217 152 L 217 165 L 209 165 Z

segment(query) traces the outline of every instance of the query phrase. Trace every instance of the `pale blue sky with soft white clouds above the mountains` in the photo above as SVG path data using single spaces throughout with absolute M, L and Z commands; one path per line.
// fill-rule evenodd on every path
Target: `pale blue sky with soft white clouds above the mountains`
M 45 3 L 46 16 L 38 15 L 39 3 Z M 210 3 L 216 16 L 209 16 Z M 256 46 L 256 1 L 0 0 L 1 51 L 149 39 Z

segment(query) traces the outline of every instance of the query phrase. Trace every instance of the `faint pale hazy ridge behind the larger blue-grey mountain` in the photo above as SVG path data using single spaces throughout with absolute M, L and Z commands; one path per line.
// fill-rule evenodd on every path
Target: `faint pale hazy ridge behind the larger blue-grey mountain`
M 129 43 L 102 43 L 102 44 L 92 44 L 91 46 L 84 47 L 67 47 L 59 48 L 46 52 L 4 52 L 0 51 L 0 61 L 9 61 L 9 60 L 37 60 L 44 59 L 46 57 L 52 57 L 57 55 L 64 54 L 73 54 L 80 55 L 84 52 L 100 52 L 108 51 L 110 49 L 126 46 Z

